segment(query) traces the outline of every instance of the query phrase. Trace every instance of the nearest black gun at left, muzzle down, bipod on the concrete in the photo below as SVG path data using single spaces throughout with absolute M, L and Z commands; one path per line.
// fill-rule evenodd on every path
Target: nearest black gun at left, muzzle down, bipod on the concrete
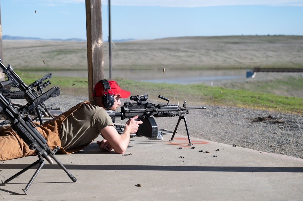
M 33 164 L 29 165 L 25 169 L 21 170 L 14 176 L 10 177 L 8 180 L 2 181 L 3 184 L 8 183 L 15 177 L 18 177 L 20 174 L 24 173 L 26 170 L 32 168 L 33 166 L 39 164 L 38 169 L 33 175 L 32 179 L 29 181 L 25 189 L 23 189 L 24 193 L 28 190 L 29 186 L 32 184 L 33 180 L 45 164 L 45 160 L 48 163 L 52 164 L 54 159 L 56 163 L 67 173 L 67 175 L 72 179 L 73 182 L 76 182 L 77 179 L 63 166 L 63 164 L 55 157 L 56 152 L 60 149 L 59 147 L 55 149 L 51 149 L 47 145 L 46 139 L 38 132 L 38 130 L 34 127 L 32 123 L 32 119 L 26 115 L 24 116 L 22 113 L 18 112 L 11 103 L 9 103 L 5 97 L 0 93 L 0 114 L 11 122 L 12 128 L 16 131 L 16 133 L 22 138 L 23 141 L 29 146 L 30 149 L 35 150 L 39 159 L 35 161 Z

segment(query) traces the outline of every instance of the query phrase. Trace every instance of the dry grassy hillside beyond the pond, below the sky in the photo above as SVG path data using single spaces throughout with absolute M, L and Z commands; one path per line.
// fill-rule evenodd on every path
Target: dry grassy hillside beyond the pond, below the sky
M 303 36 L 175 37 L 115 42 L 118 69 L 246 69 L 303 67 Z M 87 69 L 86 42 L 4 40 L 5 65 L 22 69 Z M 108 42 L 103 44 L 108 69 Z M 44 63 L 44 62 L 45 63 Z

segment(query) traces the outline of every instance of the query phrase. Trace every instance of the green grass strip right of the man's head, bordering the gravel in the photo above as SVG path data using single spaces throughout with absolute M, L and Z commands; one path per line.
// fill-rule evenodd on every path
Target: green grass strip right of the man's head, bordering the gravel
M 134 82 L 116 79 L 127 90 L 138 94 L 149 94 L 152 99 L 165 96 L 173 102 L 186 99 L 187 104 L 228 105 L 254 109 L 268 109 L 279 112 L 303 114 L 303 98 L 278 96 L 270 93 L 251 92 L 248 90 L 226 89 L 204 84 L 159 84 Z M 137 87 L 140 86 L 140 87 Z

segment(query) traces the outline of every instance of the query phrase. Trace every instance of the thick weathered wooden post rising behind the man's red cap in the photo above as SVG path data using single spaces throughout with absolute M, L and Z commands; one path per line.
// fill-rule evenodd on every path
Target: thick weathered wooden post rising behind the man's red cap
M 88 63 L 88 98 L 92 100 L 95 84 L 104 79 L 102 15 L 100 0 L 85 0 Z

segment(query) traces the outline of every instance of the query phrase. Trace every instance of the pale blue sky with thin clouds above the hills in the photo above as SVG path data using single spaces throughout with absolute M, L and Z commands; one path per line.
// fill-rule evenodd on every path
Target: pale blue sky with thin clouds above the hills
M 1 0 L 0 5 L 3 35 L 86 40 L 85 0 Z M 303 0 L 111 0 L 111 5 L 112 40 L 303 35 Z M 102 0 L 102 27 L 107 41 L 107 0 Z

